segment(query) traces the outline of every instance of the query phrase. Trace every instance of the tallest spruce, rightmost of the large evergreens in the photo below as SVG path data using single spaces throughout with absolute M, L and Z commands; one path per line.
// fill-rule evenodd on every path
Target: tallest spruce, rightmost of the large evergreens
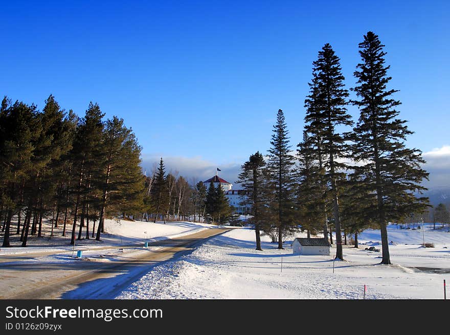
M 354 72 L 358 86 L 353 88 L 358 99 L 352 103 L 361 114 L 353 129 L 352 151 L 354 159 L 362 163 L 354 169 L 361 176 L 365 191 L 376 197 L 375 205 L 369 204 L 367 211 L 374 213 L 380 226 L 381 264 L 391 264 L 387 224 L 426 208 L 427 198 L 416 198 L 414 192 L 425 190 L 420 182 L 428 178 L 428 173 L 420 168 L 424 163 L 421 151 L 404 144 L 412 132 L 407 121 L 397 118 L 395 107 L 400 101 L 391 97 L 397 91 L 387 88 L 391 77 L 387 75 L 389 66 L 385 65 L 383 47 L 373 32 L 368 32 L 359 43 L 362 63 Z

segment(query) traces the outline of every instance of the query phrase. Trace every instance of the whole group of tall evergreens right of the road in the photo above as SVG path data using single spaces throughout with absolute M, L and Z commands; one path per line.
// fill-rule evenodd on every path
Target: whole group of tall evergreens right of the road
M 354 234 L 357 247 L 357 234 L 375 225 L 381 233 L 381 263 L 391 264 L 387 224 L 428 208 L 428 198 L 420 196 L 428 172 L 421 168 L 421 151 L 404 143 L 412 132 L 398 117 L 400 101 L 392 97 L 397 90 L 388 88 L 384 46 L 373 32 L 364 35 L 353 74 L 356 85 L 350 88 L 356 98 L 350 99 L 340 58 L 325 44 L 313 62 L 297 150 L 289 144 L 280 109 L 268 155 L 258 151 L 242 165 L 237 183 L 247 194 L 242 204 L 252 208 L 256 249 L 261 250 L 260 229 L 276 236 L 282 249 L 283 236 L 299 225 L 308 237 L 321 232 L 328 240 L 329 234 L 331 243 L 333 228 L 335 258 L 343 260 L 342 232 L 345 239 Z M 349 105 L 359 110 L 356 122 Z

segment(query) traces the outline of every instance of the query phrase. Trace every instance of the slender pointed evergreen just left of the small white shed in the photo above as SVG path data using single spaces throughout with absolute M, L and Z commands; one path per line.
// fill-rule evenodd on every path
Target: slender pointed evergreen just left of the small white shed
M 273 127 L 271 148 L 268 152 L 268 178 L 266 191 L 271 203 L 269 207 L 275 212 L 275 225 L 278 229 L 278 249 L 283 249 L 285 229 L 294 223 L 294 157 L 289 153 L 289 137 L 283 111 L 277 113 L 277 123 Z

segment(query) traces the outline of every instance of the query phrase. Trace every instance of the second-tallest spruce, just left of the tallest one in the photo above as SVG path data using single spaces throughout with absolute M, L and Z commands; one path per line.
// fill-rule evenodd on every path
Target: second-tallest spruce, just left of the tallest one
M 342 180 L 342 171 L 347 166 L 336 160 L 347 156 L 348 136 L 339 133 L 336 127 L 350 126 L 353 122 L 345 107 L 348 91 L 344 89 L 345 78 L 342 74 L 340 59 L 335 55 L 330 44 L 325 44 L 319 51 L 318 60 L 313 62 L 312 75 L 312 83 L 309 84 L 310 94 L 305 100 L 307 107 L 305 130 L 308 135 L 318 140 L 316 148 L 324 157 L 325 180 L 333 203 L 333 221 L 336 231 L 335 258 L 343 260 L 338 180 Z

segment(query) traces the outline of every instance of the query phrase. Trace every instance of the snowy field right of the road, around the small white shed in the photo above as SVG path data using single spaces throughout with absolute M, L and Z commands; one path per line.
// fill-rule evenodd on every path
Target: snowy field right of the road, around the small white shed
M 256 251 L 254 231 L 235 229 L 209 240 L 191 254 L 154 267 L 119 299 L 442 299 L 450 282 L 450 233 L 388 227 L 391 262 L 380 265 L 379 230 L 366 230 L 359 249 L 344 246 L 345 261 L 332 256 L 293 255 L 263 237 Z M 443 229 L 446 230 L 446 229 Z M 425 242 L 435 244 L 424 248 Z M 420 268 L 420 269 L 418 269 Z M 447 292 L 450 293 L 450 292 Z

